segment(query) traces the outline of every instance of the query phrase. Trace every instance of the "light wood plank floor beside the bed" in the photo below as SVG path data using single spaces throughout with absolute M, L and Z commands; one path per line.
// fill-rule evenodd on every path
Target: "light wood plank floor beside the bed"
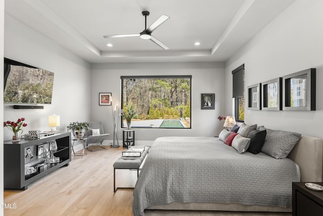
M 95 148 L 95 147 L 94 147 Z M 72 156 L 67 167 L 59 168 L 29 185 L 25 191 L 4 193 L 4 202 L 16 204 L 5 209 L 5 215 L 133 215 L 133 190 L 113 192 L 113 163 L 121 156 L 122 147 L 89 152 L 83 158 Z M 132 187 L 136 171 L 117 170 L 117 186 Z M 219 216 L 291 216 L 291 213 L 225 212 L 225 211 L 150 211 L 156 215 Z

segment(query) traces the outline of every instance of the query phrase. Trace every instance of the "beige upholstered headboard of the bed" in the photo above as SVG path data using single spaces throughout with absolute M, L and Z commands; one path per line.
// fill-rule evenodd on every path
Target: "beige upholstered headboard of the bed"
M 301 182 L 323 182 L 323 139 L 301 136 L 287 157 L 298 164 Z

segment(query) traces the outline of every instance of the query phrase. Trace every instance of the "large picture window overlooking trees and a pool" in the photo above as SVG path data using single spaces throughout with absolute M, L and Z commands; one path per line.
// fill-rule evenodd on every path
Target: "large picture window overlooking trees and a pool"
M 191 128 L 192 76 L 121 76 L 122 109 L 131 127 Z M 126 127 L 126 119 L 121 120 Z

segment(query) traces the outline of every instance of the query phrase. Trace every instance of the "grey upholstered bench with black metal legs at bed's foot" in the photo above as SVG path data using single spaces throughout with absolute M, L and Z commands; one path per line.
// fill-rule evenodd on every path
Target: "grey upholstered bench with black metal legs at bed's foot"
M 140 157 L 120 157 L 114 164 L 113 164 L 113 191 L 116 192 L 119 188 L 120 189 L 133 189 L 133 188 L 124 188 L 119 187 L 116 188 L 116 169 L 137 169 L 137 178 L 139 176 L 139 169 L 141 168 L 141 163 L 145 159 L 148 153 L 149 147 L 145 147 L 144 151 L 141 152 Z

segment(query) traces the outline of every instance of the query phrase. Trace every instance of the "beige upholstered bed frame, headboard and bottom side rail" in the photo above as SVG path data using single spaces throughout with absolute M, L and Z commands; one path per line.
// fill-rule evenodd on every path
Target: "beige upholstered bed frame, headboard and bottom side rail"
M 301 182 L 323 182 L 323 139 L 301 136 L 287 156 L 298 164 Z M 291 212 L 292 208 L 242 205 L 236 203 L 180 203 L 153 205 L 147 209 L 164 210 L 220 210 Z

